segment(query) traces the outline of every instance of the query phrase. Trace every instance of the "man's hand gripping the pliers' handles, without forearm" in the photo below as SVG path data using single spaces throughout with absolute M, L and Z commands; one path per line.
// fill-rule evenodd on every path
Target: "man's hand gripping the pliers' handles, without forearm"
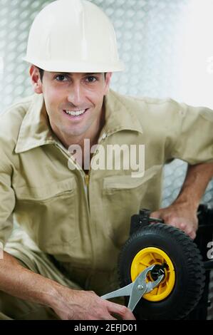
M 53 310 L 62 320 L 135 320 L 135 316 L 125 306 L 102 299 L 91 291 L 77 291 L 63 287 Z

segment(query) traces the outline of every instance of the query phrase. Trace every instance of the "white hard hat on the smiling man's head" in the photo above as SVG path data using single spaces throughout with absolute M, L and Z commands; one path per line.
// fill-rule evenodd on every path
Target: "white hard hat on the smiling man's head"
M 51 72 L 124 70 L 113 25 L 86 0 L 57 0 L 42 9 L 31 26 L 24 60 Z

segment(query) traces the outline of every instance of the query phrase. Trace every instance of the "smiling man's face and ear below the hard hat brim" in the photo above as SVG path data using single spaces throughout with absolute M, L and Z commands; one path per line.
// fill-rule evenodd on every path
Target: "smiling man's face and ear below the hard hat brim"
M 43 93 L 51 128 L 63 138 L 87 138 L 100 124 L 111 73 L 56 73 L 31 67 L 36 93 Z M 96 129 L 97 131 L 97 129 Z

